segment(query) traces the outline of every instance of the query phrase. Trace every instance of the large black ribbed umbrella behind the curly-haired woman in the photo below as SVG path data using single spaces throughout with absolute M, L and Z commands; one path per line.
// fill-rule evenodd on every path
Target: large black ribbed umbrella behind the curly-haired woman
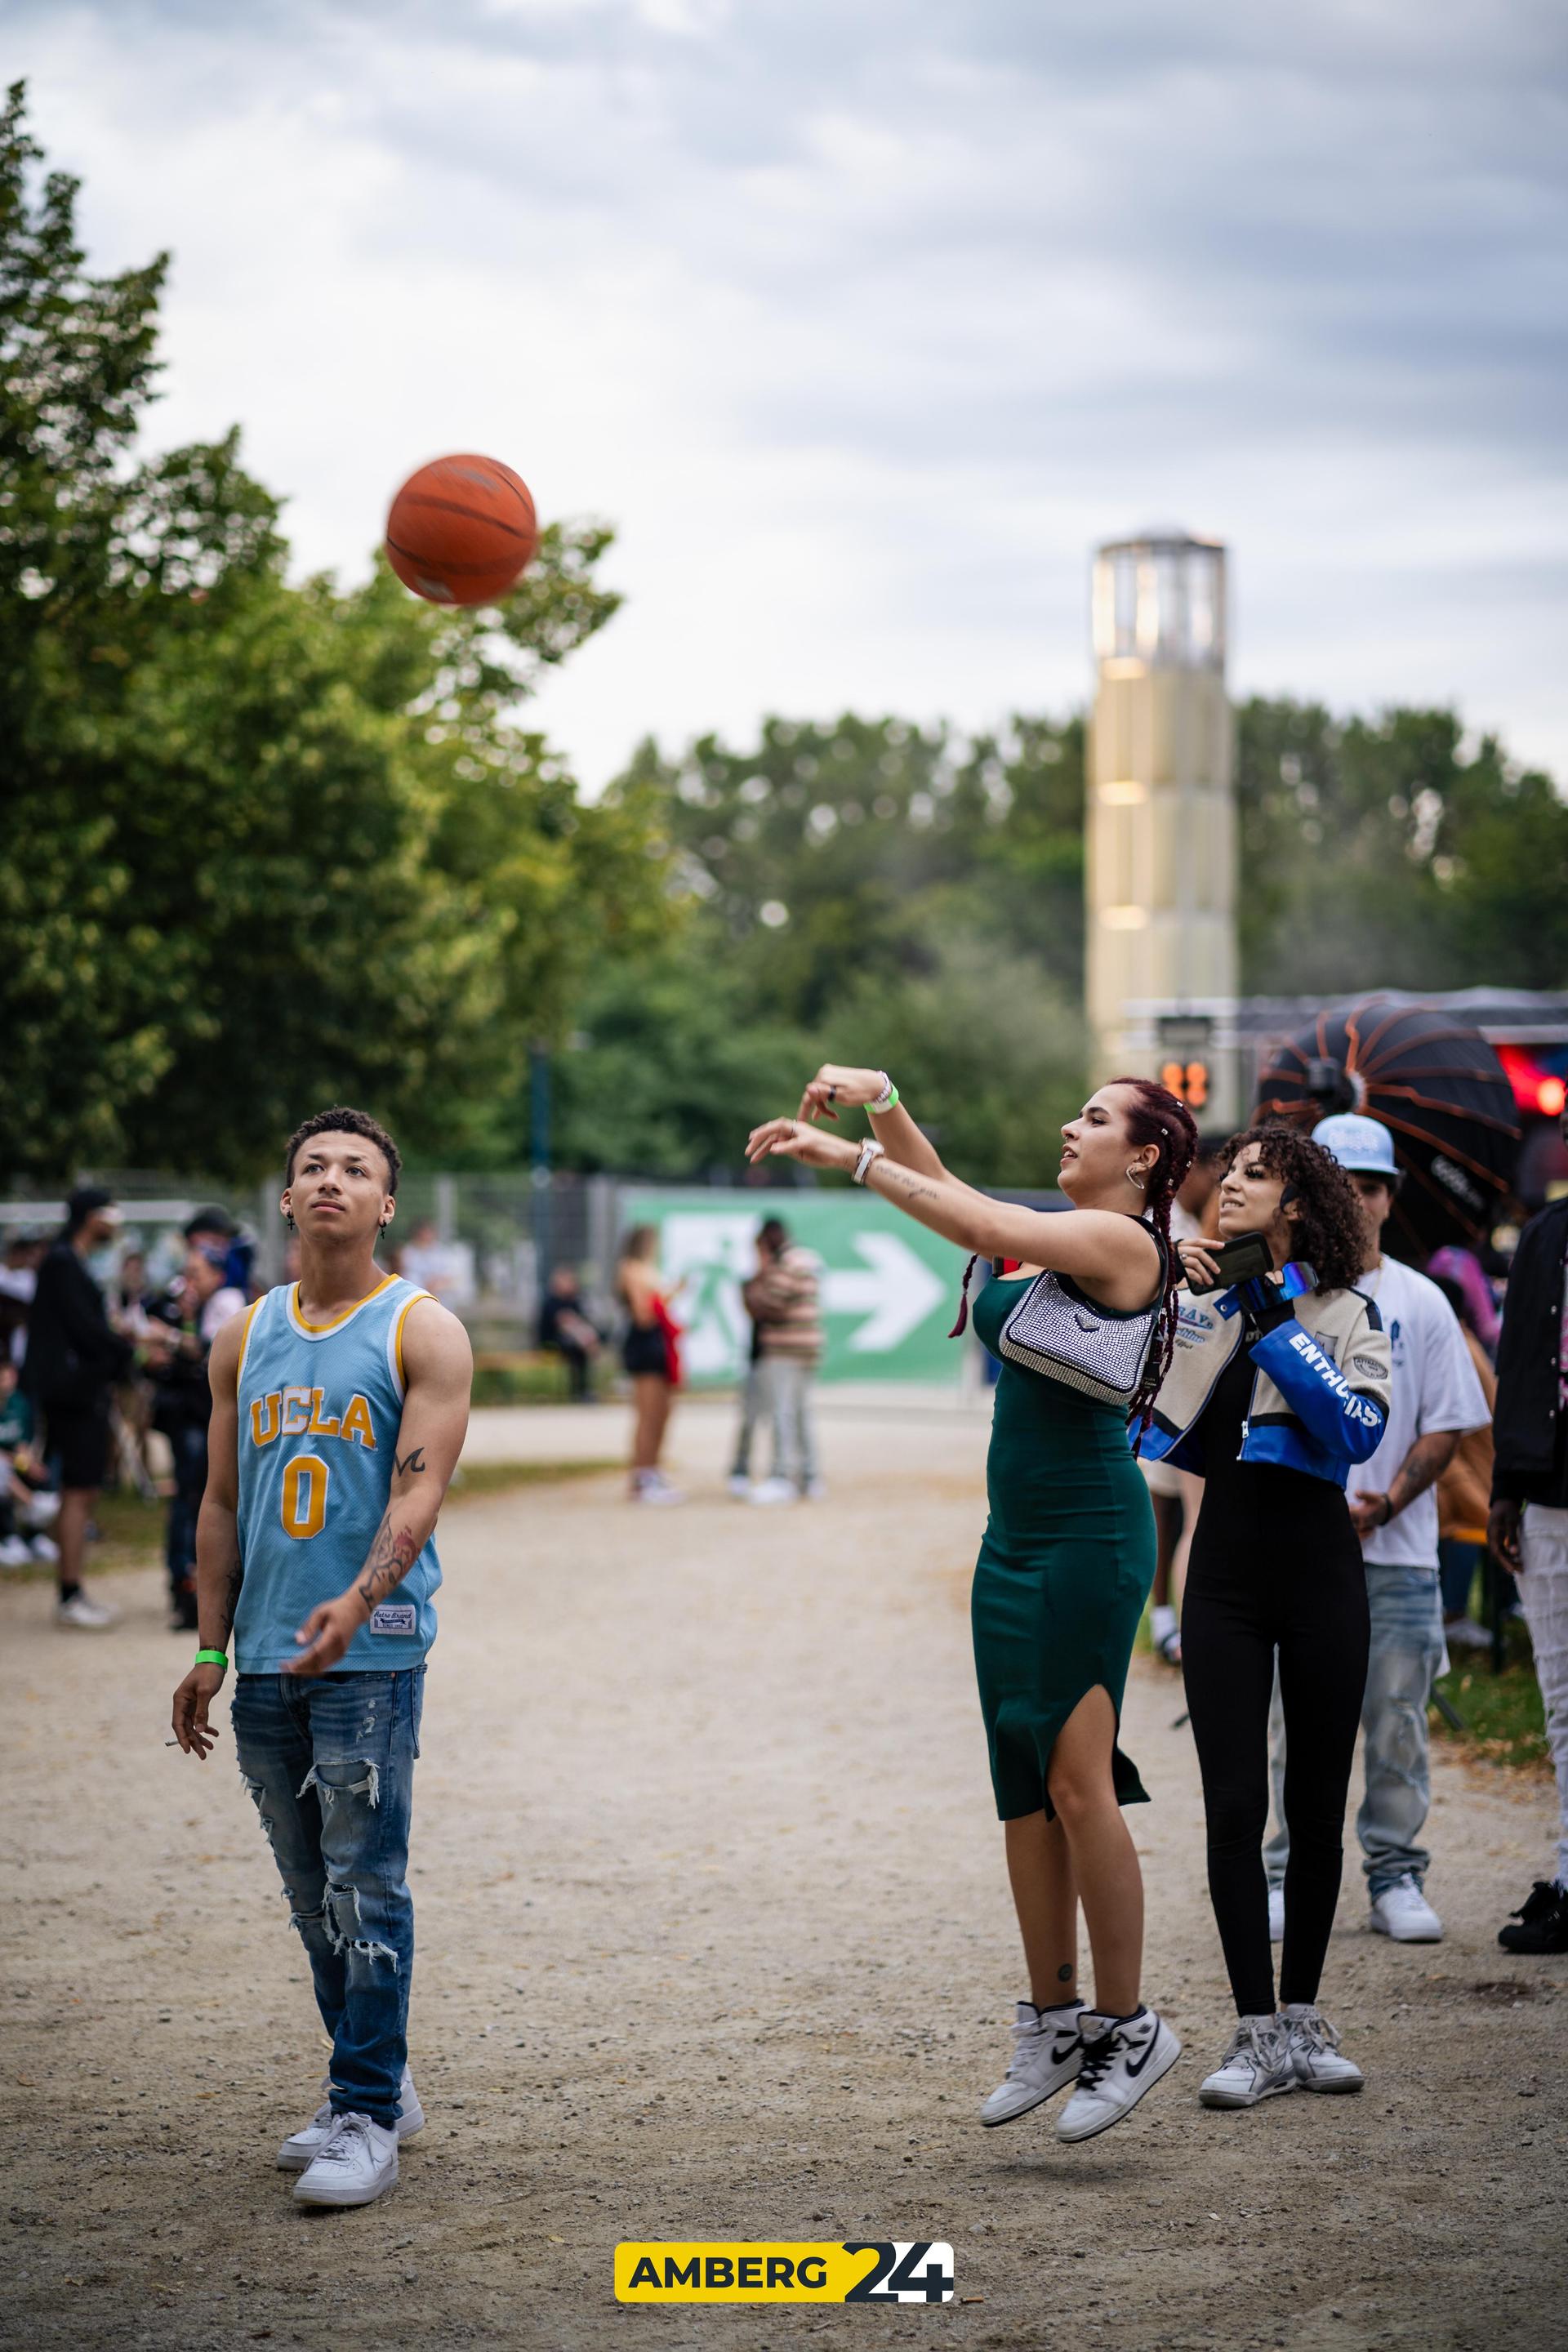
M 1258 1077 L 1262 1120 L 1312 1127 L 1331 1110 L 1366 1110 L 1392 1131 L 1406 1181 L 1389 1240 L 1406 1256 L 1486 1242 L 1514 1181 L 1519 1112 L 1481 1030 L 1389 990 L 1335 1004 Z

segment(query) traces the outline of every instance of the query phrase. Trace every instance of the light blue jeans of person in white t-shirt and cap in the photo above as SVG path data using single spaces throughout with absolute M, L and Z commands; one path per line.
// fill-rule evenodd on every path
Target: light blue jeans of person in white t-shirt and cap
M 1420 1886 L 1432 1865 L 1418 1837 L 1432 1809 L 1427 1700 L 1443 1663 L 1443 1599 L 1436 1569 L 1366 1564 L 1373 1646 L 1361 1698 L 1366 1795 L 1356 1813 L 1366 1893 L 1375 1903 L 1406 1875 Z M 1269 1715 L 1269 1778 L 1276 1830 L 1262 1849 L 1269 1886 L 1284 1886 L 1291 1832 L 1284 1813 L 1286 1736 L 1279 1715 L 1279 1675 Z

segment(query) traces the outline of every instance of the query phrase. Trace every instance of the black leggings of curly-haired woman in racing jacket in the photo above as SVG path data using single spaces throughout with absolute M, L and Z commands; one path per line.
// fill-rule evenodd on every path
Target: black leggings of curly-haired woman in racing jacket
M 1260 1472 L 1267 1477 L 1269 1472 Z M 1291 1472 L 1279 1472 L 1298 1484 Z M 1300 1479 L 1300 1486 L 1307 1482 Z M 1333 1489 L 1331 1489 L 1333 1491 Z M 1281 2002 L 1316 2002 L 1340 1896 L 1345 1799 L 1366 1689 L 1366 1571 L 1342 1498 L 1331 1541 L 1302 1548 L 1274 1512 L 1229 1512 L 1204 1543 L 1199 1517 L 1182 1597 L 1182 1675 L 1204 1773 L 1208 1893 L 1239 2016 L 1274 2009 L 1269 1889 L 1269 1700 L 1274 1649 L 1286 1710 L 1286 1943 Z M 1328 1534 L 1319 1526 L 1319 1534 Z

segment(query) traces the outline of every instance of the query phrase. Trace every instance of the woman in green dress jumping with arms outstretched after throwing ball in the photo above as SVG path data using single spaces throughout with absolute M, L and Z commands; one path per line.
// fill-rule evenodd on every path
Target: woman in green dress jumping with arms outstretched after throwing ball
M 870 1112 L 865 1143 L 816 1124 L 851 1105 Z M 816 1073 L 795 1120 L 769 1120 L 748 1143 L 752 1162 L 842 1169 L 945 1240 L 1018 1265 L 976 1303 L 1001 1374 L 973 1639 L 1030 1999 L 1018 2002 L 1013 2060 L 980 2122 L 1009 2124 L 1072 2082 L 1060 2140 L 1121 2122 L 1180 2056 L 1140 2002 L 1143 1877 L 1121 1806 L 1145 1790 L 1117 1731 L 1154 1576 L 1154 1515 L 1128 1418 L 1147 1416 L 1175 1343 L 1168 1218 L 1194 1150 L 1192 1115 L 1173 1094 L 1112 1080 L 1063 1127 L 1058 1183 L 1074 1214 L 1023 1209 L 959 1183 L 884 1070 L 837 1063 Z M 1079 1905 L 1093 2009 L 1077 1987 Z

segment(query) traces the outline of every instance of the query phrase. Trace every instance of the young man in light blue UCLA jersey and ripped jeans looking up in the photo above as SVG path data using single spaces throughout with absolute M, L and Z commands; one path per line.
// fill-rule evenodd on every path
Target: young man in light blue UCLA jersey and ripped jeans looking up
M 383 1275 L 397 1145 L 362 1110 L 289 1138 L 282 1214 L 299 1282 L 212 1348 L 207 1494 L 195 1538 L 195 1665 L 174 1736 L 207 1757 L 228 1675 L 249 1788 L 331 2034 L 327 2100 L 277 2152 L 301 2204 L 371 2204 L 423 2112 L 407 2065 L 409 1811 L 435 1517 L 468 1428 L 468 1334 Z

